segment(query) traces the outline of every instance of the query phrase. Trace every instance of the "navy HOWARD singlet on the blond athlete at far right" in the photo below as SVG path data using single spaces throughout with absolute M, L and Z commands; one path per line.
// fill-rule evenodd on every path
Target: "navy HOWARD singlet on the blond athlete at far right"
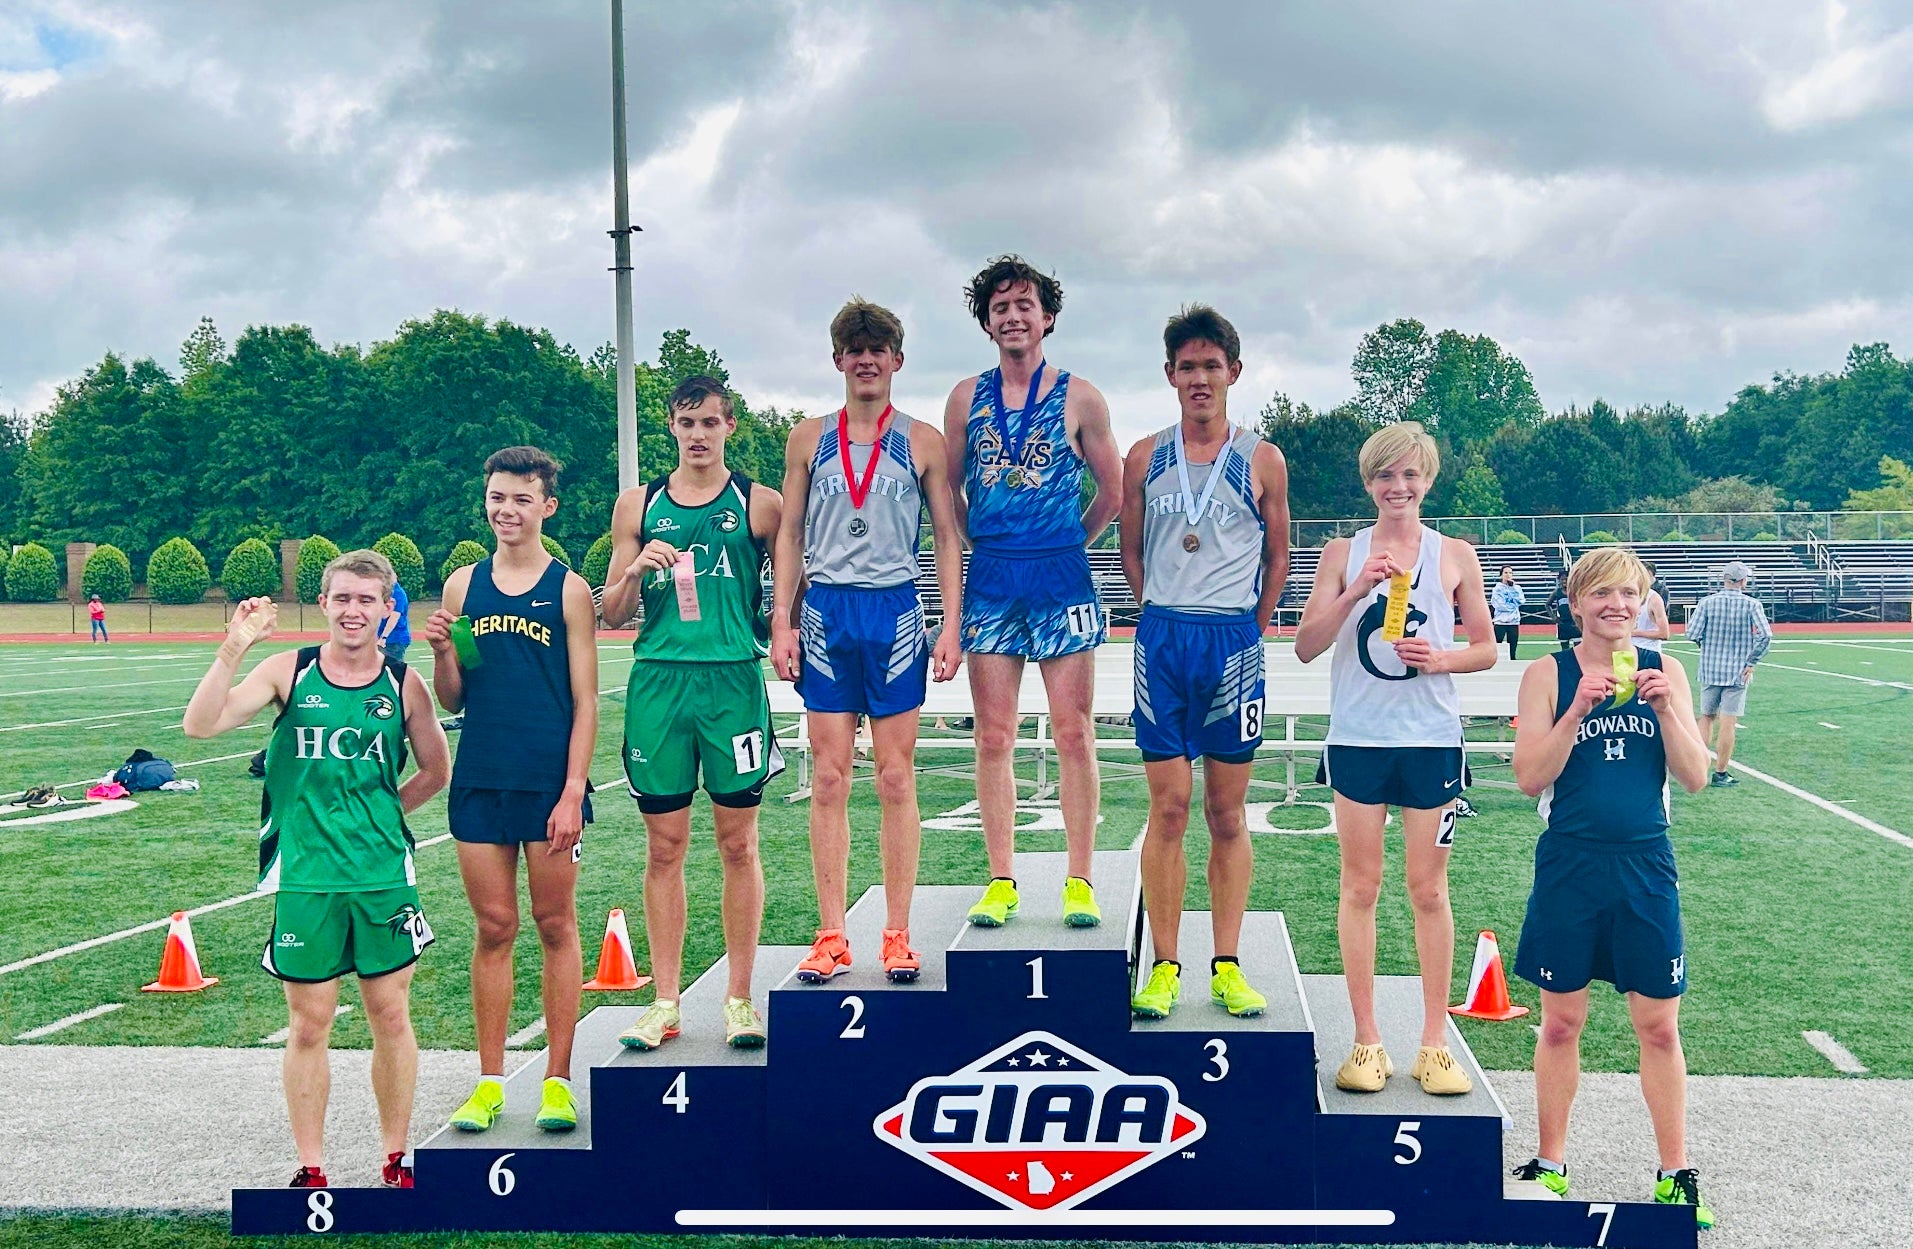
M 1638 650 L 1641 671 L 1660 668 L 1660 654 Z M 1580 658 L 1572 648 L 1555 656 L 1555 721 L 1574 702 Z M 1555 782 L 1542 792 L 1546 836 L 1624 849 L 1651 849 L 1668 832 L 1668 761 L 1660 717 L 1639 694 L 1618 708 L 1613 698 L 1580 721 L 1574 750 Z

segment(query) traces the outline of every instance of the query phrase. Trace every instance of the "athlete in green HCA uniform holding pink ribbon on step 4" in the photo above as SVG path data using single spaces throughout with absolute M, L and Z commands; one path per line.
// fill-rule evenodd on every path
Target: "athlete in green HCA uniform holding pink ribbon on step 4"
M 702 775 L 723 851 L 725 1041 L 752 1048 L 765 1042 L 763 1018 L 750 1004 L 763 920 L 758 803 L 765 782 L 784 771 L 763 689 L 763 568 L 782 497 L 725 465 L 737 417 L 723 383 L 685 379 L 670 413 L 677 469 L 618 495 L 612 581 L 599 608 L 616 629 L 643 604 L 624 700 L 624 775 L 650 842 L 645 931 L 658 998 L 620 1041 L 654 1050 L 679 1029 L 685 849 Z

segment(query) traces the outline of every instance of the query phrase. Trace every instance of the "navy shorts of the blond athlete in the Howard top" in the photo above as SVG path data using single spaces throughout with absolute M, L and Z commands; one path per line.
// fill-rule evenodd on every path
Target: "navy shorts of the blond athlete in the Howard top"
M 1550 993 L 1597 979 L 1641 997 L 1685 993 L 1674 845 L 1618 849 L 1544 832 L 1515 975 Z

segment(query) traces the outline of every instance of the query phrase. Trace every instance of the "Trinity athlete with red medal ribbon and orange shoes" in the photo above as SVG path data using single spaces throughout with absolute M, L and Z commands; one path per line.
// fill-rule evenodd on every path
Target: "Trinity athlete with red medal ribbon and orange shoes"
M 849 782 L 857 717 L 869 715 L 882 807 L 880 958 L 890 979 L 914 981 L 920 966 L 911 949 L 911 893 L 922 834 L 916 723 L 926 668 L 949 681 L 962 662 L 953 620 L 962 604 L 962 534 L 943 434 L 890 405 L 890 381 L 903 367 L 903 323 L 888 308 L 851 298 L 830 321 L 830 352 L 844 375 L 844 407 L 790 430 L 784 515 L 771 559 L 771 662 L 803 696 L 815 765 L 817 941 L 798 964 L 798 979 L 823 983 L 851 966 L 844 937 Z M 916 537 L 926 505 L 947 622 L 935 646 L 924 635 L 916 599 Z

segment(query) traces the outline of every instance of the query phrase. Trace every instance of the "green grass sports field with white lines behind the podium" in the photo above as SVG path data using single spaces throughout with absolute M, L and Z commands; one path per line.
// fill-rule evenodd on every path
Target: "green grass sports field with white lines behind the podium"
M 1683 648 L 1678 648 L 1683 650 Z M 1691 654 L 1691 648 L 1685 650 Z M 209 654 L 191 643 L 105 646 L 11 646 L 0 656 L 0 792 L 33 782 L 71 782 L 111 771 L 132 748 L 189 763 L 197 794 L 147 794 L 138 811 L 8 826 L 0 822 L 0 872 L 11 882 L 0 924 L 0 1037 L 57 1021 L 101 1004 L 121 1010 L 46 1037 L 59 1044 L 260 1044 L 285 1023 L 277 985 L 258 970 L 266 903 L 241 901 L 193 922 L 201 960 L 220 985 L 191 997 L 142 995 L 153 977 L 163 931 L 109 941 L 27 968 L 10 968 L 48 951 L 151 922 L 174 909 L 241 897 L 253 887 L 258 782 L 247 754 L 266 736 L 264 721 L 212 742 L 178 729 Z M 429 662 L 429 652 L 415 648 Z M 606 727 L 595 777 L 618 777 L 616 729 L 622 713 L 624 650 L 606 645 L 601 685 Z M 1898 685 L 1894 685 L 1898 683 Z M 1909 725 L 1913 646 L 1871 635 L 1838 641 L 1781 639 L 1762 666 L 1743 725 L 1739 759 L 1886 826 L 1913 828 L 1905 811 L 1900 740 Z M 1827 727 L 1833 725 L 1833 727 Z M 1490 729 L 1483 729 L 1488 733 Z M 457 734 L 453 734 L 453 746 Z M 228 757 L 230 756 L 230 757 Z M 943 757 L 941 754 L 937 756 Z M 1111 761 L 1121 756 L 1111 756 Z M 1278 763 L 1263 765 L 1276 778 Z M 1484 767 L 1479 777 L 1507 777 Z M 763 859 L 769 882 L 765 943 L 802 945 L 813 928 L 803 803 L 784 803 L 786 775 L 763 807 Z M 65 790 L 78 796 L 78 790 Z M 1274 798 L 1274 792 L 1263 790 Z M 1259 794 L 1251 792 L 1251 800 Z M 1324 792 L 1310 792 L 1324 798 Z M 960 775 L 926 775 L 926 817 L 974 798 Z M 1465 983 L 1473 933 L 1496 930 L 1511 956 L 1521 928 L 1536 836 L 1534 803 L 1509 788 L 1477 786 L 1481 819 L 1465 821 L 1452 863 L 1456 977 Z M 580 884 L 587 960 L 603 916 L 641 907 L 643 844 L 633 805 L 606 788 L 589 830 Z M 1134 769 L 1110 767 L 1104 782 L 1102 847 L 1129 845 L 1146 813 Z M 1295 807 L 1272 822 L 1318 826 L 1322 813 Z M 13 819 L 19 819 L 17 815 Z M 698 817 L 700 824 L 708 817 Z M 1023 817 L 1025 822 L 1033 815 Z M 857 786 L 851 895 L 876 882 L 876 811 Z M 444 798 L 413 817 L 421 842 L 444 832 Z M 1913 1037 L 1896 1019 L 1913 1012 L 1913 935 L 1882 916 L 1913 912 L 1913 849 L 1842 821 L 1815 805 L 1743 777 L 1737 790 L 1676 798 L 1676 845 L 1693 991 L 1685 1002 L 1687 1054 L 1697 1073 L 1831 1075 L 1827 1060 L 1800 1037 L 1817 1029 L 1846 1044 L 1877 1075 L 1913 1077 Z M 1062 849 L 1060 832 L 1023 834 L 1025 849 Z M 1192 840 L 1196 855 L 1199 840 Z M 981 880 L 981 836 L 924 832 L 922 880 Z M 1198 865 L 1199 866 L 1199 865 Z M 1381 914 L 1381 970 L 1412 972 L 1408 907 L 1396 872 Z M 712 897 L 717 861 L 708 840 L 691 859 L 693 897 Z M 430 1048 L 473 1044 L 465 983 L 471 912 L 459 889 L 450 844 L 419 853 L 421 893 L 438 931 L 413 995 L 419 1041 Z M 1192 907 L 1203 905 L 1201 872 L 1190 874 Z M 1305 972 L 1335 972 L 1335 845 L 1326 836 L 1257 838 L 1255 907 L 1289 916 Z M 641 924 L 633 922 L 645 960 Z M 687 970 L 719 954 L 715 909 L 694 907 Z M 536 937 L 520 937 L 520 975 L 513 1027 L 538 1014 Z M 352 991 L 346 991 L 348 1000 Z M 1534 993 L 1515 983 L 1517 1000 Z M 597 997 L 597 995 L 595 995 Z M 639 995 L 643 998 L 643 995 Z M 603 1000 L 618 1000 L 606 997 Z M 1483 1062 L 1523 1069 L 1532 1058 L 1527 1023 L 1463 1023 Z M 335 1042 L 369 1044 L 358 1012 L 341 1019 Z M 1618 1002 L 1599 1002 L 1590 1023 L 1590 1069 L 1628 1071 L 1634 1046 Z

